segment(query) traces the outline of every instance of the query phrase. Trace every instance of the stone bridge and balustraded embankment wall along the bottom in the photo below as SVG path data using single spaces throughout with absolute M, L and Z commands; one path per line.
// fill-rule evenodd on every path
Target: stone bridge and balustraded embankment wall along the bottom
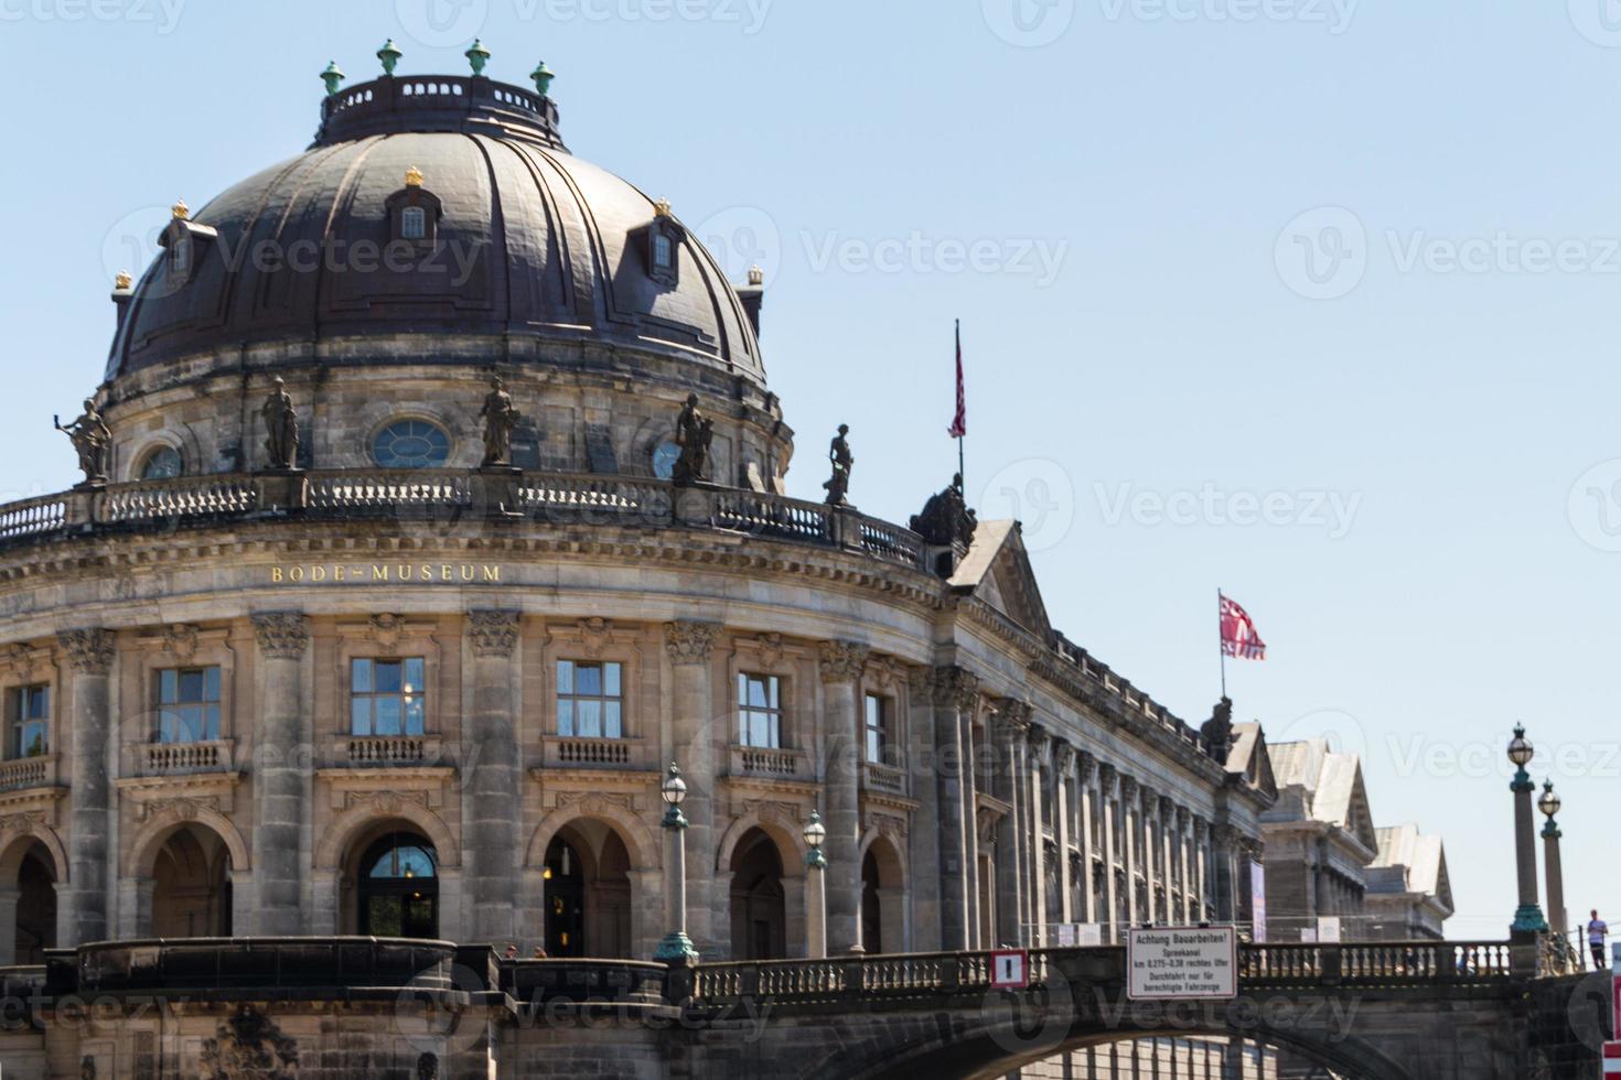
M 1243 1040 L 1365 1080 L 1598 1074 L 1608 976 L 1506 942 L 1242 946 L 1222 1002 L 1131 1002 L 1125 949 L 666 968 L 374 938 L 102 942 L 0 968 L 16 1077 L 1000 1077 L 1149 1036 Z M 1532 946 L 1532 950 L 1535 947 Z M 89 1062 L 89 1065 L 86 1065 Z M 1219 1080 L 1229 1080 L 1221 1077 Z

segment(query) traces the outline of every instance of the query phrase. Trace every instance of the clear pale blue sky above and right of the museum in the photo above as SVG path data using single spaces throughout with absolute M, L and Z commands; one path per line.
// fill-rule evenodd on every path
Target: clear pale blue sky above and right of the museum
M 1621 24 L 1013 3 L 0 0 L 0 489 L 75 479 L 50 415 L 177 196 L 298 152 L 327 60 L 462 71 L 477 32 L 496 78 L 551 65 L 577 154 L 770 270 L 798 494 L 840 421 L 862 508 L 945 484 L 961 317 L 971 494 L 1018 500 L 1075 641 L 1196 722 L 1225 586 L 1271 644 L 1238 716 L 1339 732 L 1381 824 L 1444 836 L 1454 936 L 1514 910 L 1522 719 L 1571 910 L 1621 915 Z

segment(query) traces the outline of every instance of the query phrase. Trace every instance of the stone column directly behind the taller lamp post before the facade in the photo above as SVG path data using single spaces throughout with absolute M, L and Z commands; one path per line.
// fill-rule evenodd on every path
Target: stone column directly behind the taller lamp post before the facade
M 729 717 L 718 716 L 710 685 L 710 656 L 718 635 L 720 625 L 712 622 L 665 623 L 665 654 L 671 665 L 671 753 L 687 780 L 687 800 L 681 803 L 692 855 L 687 860 L 687 933 L 707 955 L 715 955 L 716 926 L 729 926 L 731 920 L 728 897 L 715 894 L 715 777 L 720 772 L 715 742 L 731 740 Z

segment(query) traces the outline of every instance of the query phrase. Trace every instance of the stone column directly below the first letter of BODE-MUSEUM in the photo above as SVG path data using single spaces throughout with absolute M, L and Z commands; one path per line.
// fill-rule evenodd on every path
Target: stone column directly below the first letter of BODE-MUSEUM
M 253 636 L 259 644 L 259 716 L 253 733 L 251 933 L 287 938 L 310 933 L 303 912 L 311 761 L 303 750 L 303 654 L 310 620 L 300 612 L 261 612 L 253 615 Z

